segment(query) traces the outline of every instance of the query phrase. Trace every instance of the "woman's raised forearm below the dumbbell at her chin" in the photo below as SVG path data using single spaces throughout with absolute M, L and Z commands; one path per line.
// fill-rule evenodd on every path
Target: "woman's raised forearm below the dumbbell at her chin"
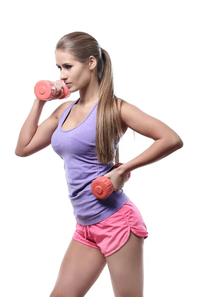
M 39 119 L 45 103 L 46 101 L 41 101 L 38 98 L 34 100 L 30 113 L 21 128 L 15 153 L 20 153 L 20 151 L 22 151 L 32 140 L 37 131 Z

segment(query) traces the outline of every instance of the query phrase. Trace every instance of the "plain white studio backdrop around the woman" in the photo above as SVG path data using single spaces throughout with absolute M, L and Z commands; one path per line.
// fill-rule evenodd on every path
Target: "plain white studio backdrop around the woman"
M 144 296 L 198 294 L 197 16 L 192 0 L 3 2 L 0 296 L 49 297 L 75 231 L 63 160 L 51 146 L 26 158 L 14 152 L 34 86 L 59 79 L 55 45 L 74 31 L 94 36 L 110 54 L 116 96 L 166 123 L 184 142 L 171 155 L 131 172 L 123 189 L 148 229 Z M 79 92 L 70 100 L 77 98 Z M 47 102 L 39 124 L 63 101 Z M 120 141 L 120 162 L 152 143 L 138 133 L 134 139 L 128 129 Z M 107 265 L 86 294 L 92 296 L 114 296 Z

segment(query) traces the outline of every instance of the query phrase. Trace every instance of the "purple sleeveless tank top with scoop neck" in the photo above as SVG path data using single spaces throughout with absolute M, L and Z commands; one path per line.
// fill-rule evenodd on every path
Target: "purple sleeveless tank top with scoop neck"
M 97 177 L 109 172 L 114 163 L 100 163 L 95 152 L 96 117 L 99 101 L 77 127 L 70 130 L 62 129 L 62 124 L 72 106 L 79 99 L 63 111 L 58 127 L 51 137 L 51 146 L 64 160 L 65 178 L 76 221 L 87 226 L 109 217 L 120 209 L 129 198 L 123 189 L 113 192 L 105 199 L 98 199 L 92 194 L 91 183 Z M 120 139 L 118 139 L 118 143 L 119 141 Z M 115 154 L 117 146 L 115 142 Z

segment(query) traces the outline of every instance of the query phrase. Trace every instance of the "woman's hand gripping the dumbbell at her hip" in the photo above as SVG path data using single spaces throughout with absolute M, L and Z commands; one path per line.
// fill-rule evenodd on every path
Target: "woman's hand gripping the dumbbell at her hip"
M 122 172 L 120 168 L 121 166 L 112 169 L 110 172 L 104 175 L 112 182 L 113 192 L 121 190 L 128 179 L 128 174 Z

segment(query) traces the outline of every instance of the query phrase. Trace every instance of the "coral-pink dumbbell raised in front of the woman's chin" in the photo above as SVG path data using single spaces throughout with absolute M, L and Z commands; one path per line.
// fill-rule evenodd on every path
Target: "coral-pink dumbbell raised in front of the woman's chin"
M 66 99 L 71 95 L 63 81 L 58 80 L 56 82 L 51 82 L 48 80 L 42 80 L 36 83 L 34 87 L 34 94 L 40 100 L 50 100 L 54 96 L 58 95 L 61 89 L 63 89 L 64 95 L 59 99 Z

